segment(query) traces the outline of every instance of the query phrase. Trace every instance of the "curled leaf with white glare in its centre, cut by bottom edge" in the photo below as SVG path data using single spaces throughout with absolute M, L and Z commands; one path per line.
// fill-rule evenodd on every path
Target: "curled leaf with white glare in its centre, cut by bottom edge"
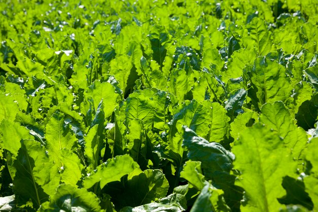
M 61 184 L 57 187 L 56 193 L 50 197 L 38 210 L 45 211 L 102 211 L 100 200 L 94 193 L 86 189 L 77 189 L 71 185 Z

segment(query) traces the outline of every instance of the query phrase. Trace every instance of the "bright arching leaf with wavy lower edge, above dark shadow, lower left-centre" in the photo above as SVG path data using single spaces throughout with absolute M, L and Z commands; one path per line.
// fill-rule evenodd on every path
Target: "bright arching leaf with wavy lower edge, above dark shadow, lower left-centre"
M 83 186 L 86 189 L 100 182 L 100 187 L 112 181 L 119 181 L 126 174 L 132 178 L 141 173 L 139 165 L 129 155 L 116 156 L 99 165 L 97 169 L 83 180 Z

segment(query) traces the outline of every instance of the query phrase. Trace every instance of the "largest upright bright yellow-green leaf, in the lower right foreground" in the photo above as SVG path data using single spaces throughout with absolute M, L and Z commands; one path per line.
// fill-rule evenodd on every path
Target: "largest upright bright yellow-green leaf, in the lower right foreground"
M 278 210 L 281 206 L 277 198 L 285 194 L 282 177 L 294 176 L 296 171 L 283 139 L 269 128 L 255 124 L 240 133 L 232 151 L 236 156 L 234 168 L 242 173 L 236 185 L 246 192 L 241 211 Z

